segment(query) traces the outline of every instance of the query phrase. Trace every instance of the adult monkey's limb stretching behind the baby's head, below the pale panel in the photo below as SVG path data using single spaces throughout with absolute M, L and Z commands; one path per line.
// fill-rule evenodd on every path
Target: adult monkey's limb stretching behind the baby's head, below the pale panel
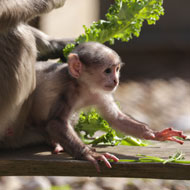
M 66 44 L 71 43 L 71 40 L 53 39 L 42 31 L 33 27 L 31 27 L 31 31 L 36 40 L 38 61 L 61 58 L 63 62 L 66 62 L 66 59 L 63 55 L 63 48 L 66 46 Z

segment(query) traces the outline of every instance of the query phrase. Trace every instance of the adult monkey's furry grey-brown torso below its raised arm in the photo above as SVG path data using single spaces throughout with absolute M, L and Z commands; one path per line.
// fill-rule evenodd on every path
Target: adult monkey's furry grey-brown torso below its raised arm
M 0 32 L 0 138 L 6 129 L 23 125 L 26 119 L 28 98 L 35 88 L 36 52 L 28 25 Z

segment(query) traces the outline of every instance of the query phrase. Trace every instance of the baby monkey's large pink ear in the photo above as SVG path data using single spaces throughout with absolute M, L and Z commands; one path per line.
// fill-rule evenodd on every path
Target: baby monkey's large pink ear
M 74 78 L 79 78 L 82 71 L 82 63 L 75 53 L 70 53 L 68 56 L 69 72 Z

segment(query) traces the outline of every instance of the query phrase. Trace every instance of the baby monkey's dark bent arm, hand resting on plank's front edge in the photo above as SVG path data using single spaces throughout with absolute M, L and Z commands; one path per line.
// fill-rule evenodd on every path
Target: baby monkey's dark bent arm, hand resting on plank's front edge
M 100 171 L 97 160 L 102 160 L 107 167 L 111 168 L 111 164 L 107 159 L 112 159 L 118 161 L 118 158 L 109 153 L 99 154 L 92 150 L 77 136 L 76 132 L 73 130 L 72 126 L 66 121 L 61 120 L 51 120 L 47 125 L 47 131 L 50 138 L 58 142 L 64 147 L 64 150 L 74 156 L 77 159 L 85 159 L 94 164 L 97 171 Z

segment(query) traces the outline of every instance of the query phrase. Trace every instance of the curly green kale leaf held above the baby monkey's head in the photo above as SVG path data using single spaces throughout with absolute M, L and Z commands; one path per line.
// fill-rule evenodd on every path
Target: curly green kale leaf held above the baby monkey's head
M 75 42 L 109 41 L 113 44 L 114 39 L 129 41 L 133 36 L 139 37 L 145 20 L 148 24 L 155 24 L 164 14 L 162 4 L 163 0 L 115 0 L 106 14 L 107 20 L 93 22 L 89 28 L 83 26 L 85 33 Z M 70 45 L 65 47 L 63 51 L 66 57 L 72 48 Z

